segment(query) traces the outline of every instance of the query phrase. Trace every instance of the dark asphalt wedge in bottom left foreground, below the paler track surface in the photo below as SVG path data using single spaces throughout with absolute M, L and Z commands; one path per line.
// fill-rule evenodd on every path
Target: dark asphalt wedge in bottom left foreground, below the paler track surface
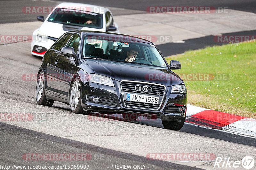
M 58 165 L 89 165 L 89 169 L 110 169 L 111 165 L 145 165 L 145 169 L 188 169 L 190 166 L 178 165 L 162 160 L 149 160 L 145 157 L 97 147 L 74 140 L 27 130 L 13 125 L 0 123 L 1 145 L 0 163 L 5 165 L 58 166 Z M 11 145 L 10 145 L 11 142 Z M 14 152 L 15 151 L 15 152 Z M 27 161 L 21 159 L 26 153 L 89 153 L 89 160 L 70 161 Z

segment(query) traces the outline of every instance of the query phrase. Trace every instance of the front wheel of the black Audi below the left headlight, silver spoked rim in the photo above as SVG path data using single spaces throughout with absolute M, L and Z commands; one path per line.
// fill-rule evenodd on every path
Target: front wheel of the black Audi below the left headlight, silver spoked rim
M 70 108 L 73 113 L 88 115 L 90 111 L 84 111 L 81 105 L 81 84 L 78 77 L 72 83 L 72 86 L 69 90 L 69 99 L 70 99 Z

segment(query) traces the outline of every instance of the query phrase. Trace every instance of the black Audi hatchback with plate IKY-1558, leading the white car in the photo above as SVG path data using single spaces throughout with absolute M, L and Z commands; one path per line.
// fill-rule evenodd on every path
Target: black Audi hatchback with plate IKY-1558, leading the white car
M 130 60 L 129 60 L 130 59 Z M 156 46 L 133 36 L 91 31 L 63 34 L 44 54 L 36 102 L 70 105 L 72 112 L 160 118 L 166 129 L 185 122 L 187 89 Z

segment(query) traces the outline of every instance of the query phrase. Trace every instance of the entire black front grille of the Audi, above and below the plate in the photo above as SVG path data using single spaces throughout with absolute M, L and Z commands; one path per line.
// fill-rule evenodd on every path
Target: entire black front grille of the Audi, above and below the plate
M 140 92 L 135 90 L 135 86 L 148 86 L 152 88 L 152 92 Z M 141 108 L 141 109 L 150 109 L 150 110 L 157 110 L 159 109 L 162 99 L 164 96 L 165 86 L 164 85 L 158 85 L 158 84 L 150 84 L 150 83 L 144 83 L 144 82 L 137 82 L 137 81 L 121 81 L 121 86 L 123 90 L 124 98 L 126 97 L 127 93 L 136 93 L 136 94 L 143 94 L 143 95 L 150 95 L 150 96 L 158 96 L 159 97 L 159 104 L 154 103 L 142 103 L 142 102 L 134 102 L 134 101 L 128 101 L 124 100 L 124 104 L 127 107 L 133 107 L 133 108 Z

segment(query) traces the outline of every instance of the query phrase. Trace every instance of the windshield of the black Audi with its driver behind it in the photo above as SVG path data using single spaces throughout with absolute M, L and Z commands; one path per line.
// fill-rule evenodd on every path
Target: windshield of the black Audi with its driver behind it
M 164 58 L 154 45 L 129 38 L 120 35 L 84 36 L 83 57 L 167 68 Z M 128 59 L 133 57 L 135 60 L 130 62 Z

